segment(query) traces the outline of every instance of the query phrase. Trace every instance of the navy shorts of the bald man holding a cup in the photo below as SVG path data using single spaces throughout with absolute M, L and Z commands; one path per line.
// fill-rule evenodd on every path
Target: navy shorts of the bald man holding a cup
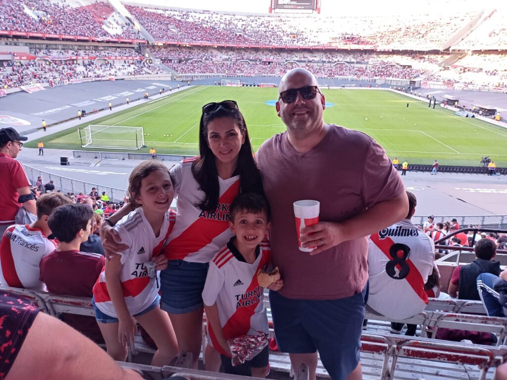
M 361 293 L 339 299 L 290 299 L 269 292 L 276 343 L 281 352 L 309 354 L 334 380 L 345 380 L 359 363 L 368 284 Z

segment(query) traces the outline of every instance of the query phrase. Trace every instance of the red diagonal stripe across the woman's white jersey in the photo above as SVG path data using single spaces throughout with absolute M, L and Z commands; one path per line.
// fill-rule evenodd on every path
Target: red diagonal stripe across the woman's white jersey
M 239 179 L 222 194 L 219 203 L 231 204 L 239 193 Z M 228 220 L 198 218 L 187 230 L 169 242 L 164 253 L 169 260 L 183 260 L 189 253 L 197 252 L 229 228 Z M 196 239 L 196 236 L 203 236 Z

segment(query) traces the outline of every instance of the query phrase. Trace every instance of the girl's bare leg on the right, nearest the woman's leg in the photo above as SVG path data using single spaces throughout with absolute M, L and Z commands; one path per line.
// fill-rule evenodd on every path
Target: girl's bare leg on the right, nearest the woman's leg
M 157 367 L 169 365 L 178 354 L 178 343 L 167 313 L 157 307 L 146 314 L 135 317 L 135 319 L 157 345 L 158 350 L 153 355 L 151 365 Z

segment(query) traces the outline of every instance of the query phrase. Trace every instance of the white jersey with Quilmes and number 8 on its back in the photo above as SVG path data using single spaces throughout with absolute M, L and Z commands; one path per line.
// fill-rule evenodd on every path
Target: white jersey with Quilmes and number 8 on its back
M 370 236 L 368 306 L 393 319 L 423 311 L 428 303 L 424 284 L 433 259 L 433 241 L 409 219 Z

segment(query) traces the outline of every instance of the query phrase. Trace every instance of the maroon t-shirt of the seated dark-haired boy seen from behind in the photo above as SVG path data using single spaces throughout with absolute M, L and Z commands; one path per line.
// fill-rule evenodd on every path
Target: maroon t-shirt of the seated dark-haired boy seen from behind
M 98 253 L 53 251 L 41 259 L 40 279 L 52 294 L 91 298 L 104 264 L 104 256 Z M 93 341 L 103 341 L 94 317 L 66 313 L 63 320 Z

